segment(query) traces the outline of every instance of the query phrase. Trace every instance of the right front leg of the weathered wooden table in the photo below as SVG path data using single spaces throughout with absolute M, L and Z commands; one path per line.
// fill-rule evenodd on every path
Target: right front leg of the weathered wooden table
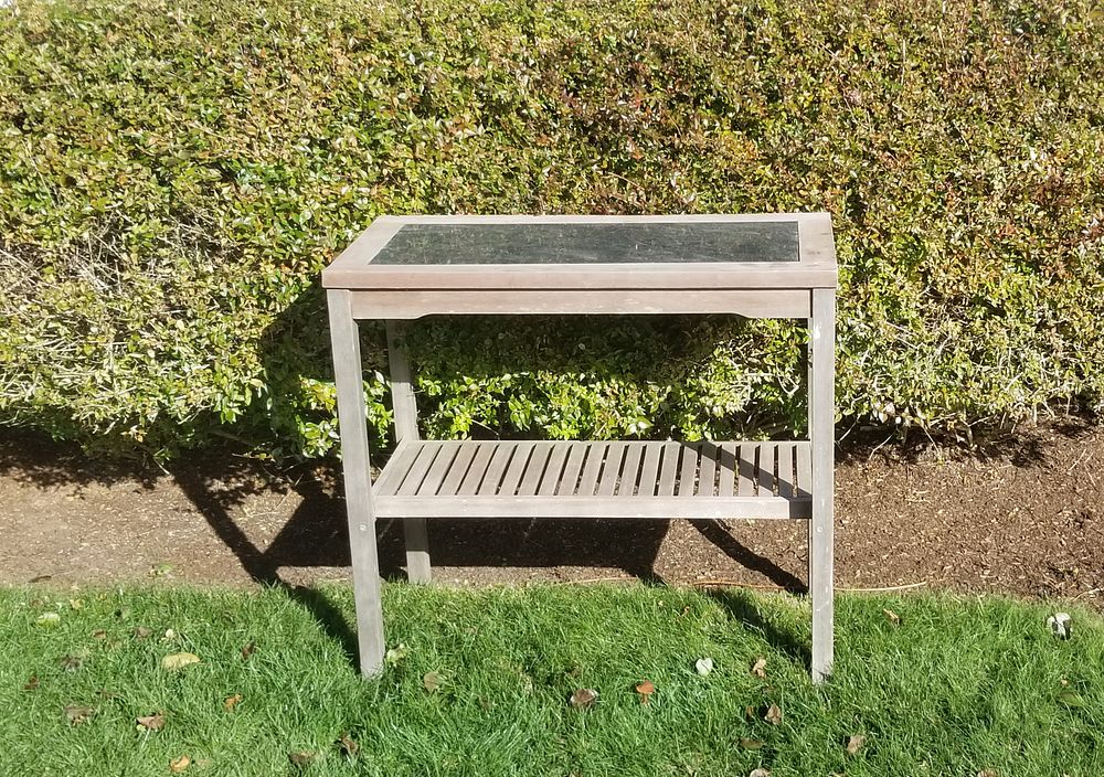
M 813 446 L 813 520 L 809 598 L 813 602 L 813 680 L 832 667 L 832 528 L 836 426 L 836 291 L 813 290 L 809 438 Z

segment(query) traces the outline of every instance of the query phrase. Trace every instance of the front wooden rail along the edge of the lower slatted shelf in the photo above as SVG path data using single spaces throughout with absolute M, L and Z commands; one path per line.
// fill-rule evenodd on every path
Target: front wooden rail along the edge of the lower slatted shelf
M 762 499 L 731 497 L 683 499 L 652 497 L 575 496 L 556 497 L 380 497 L 376 511 L 381 518 L 423 515 L 426 518 L 741 518 L 796 519 L 809 517 L 809 499 Z

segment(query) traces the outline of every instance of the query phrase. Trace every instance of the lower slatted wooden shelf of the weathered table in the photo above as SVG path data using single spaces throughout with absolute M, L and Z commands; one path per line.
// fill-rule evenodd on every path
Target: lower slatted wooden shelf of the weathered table
M 415 440 L 373 485 L 381 518 L 809 518 L 808 441 Z

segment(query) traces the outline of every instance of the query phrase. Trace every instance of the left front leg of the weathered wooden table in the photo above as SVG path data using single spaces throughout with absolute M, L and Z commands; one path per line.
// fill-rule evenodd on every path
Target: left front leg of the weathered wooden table
M 375 508 L 364 418 L 364 375 L 360 332 L 352 317 L 352 295 L 344 289 L 327 292 L 333 374 L 338 390 L 341 466 L 344 473 L 349 546 L 352 552 L 353 596 L 360 671 L 365 677 L 383 667 L 383 608 L 380 597 L 380 556 L 375 541 Z

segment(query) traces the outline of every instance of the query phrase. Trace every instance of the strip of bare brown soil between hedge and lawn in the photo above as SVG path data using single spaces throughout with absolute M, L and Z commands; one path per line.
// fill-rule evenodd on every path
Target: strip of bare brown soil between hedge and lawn
M 2 432 L 2 430 L 0 430 Z M 302 585 L 349 577 L 331 465 L 232 455 L 171 471 L 0 437 L 0 583 Z M 837 451 L 843 588 L 927 586 L 1104 603 L 1104 427 L 1063 418 L 972 451 L 847 440 Z M 797 521 L 455 521 L 431 526 L 435 579 L 726 582 L 800 590 Z M 402 525 L 380 525 L 401 578 Z

